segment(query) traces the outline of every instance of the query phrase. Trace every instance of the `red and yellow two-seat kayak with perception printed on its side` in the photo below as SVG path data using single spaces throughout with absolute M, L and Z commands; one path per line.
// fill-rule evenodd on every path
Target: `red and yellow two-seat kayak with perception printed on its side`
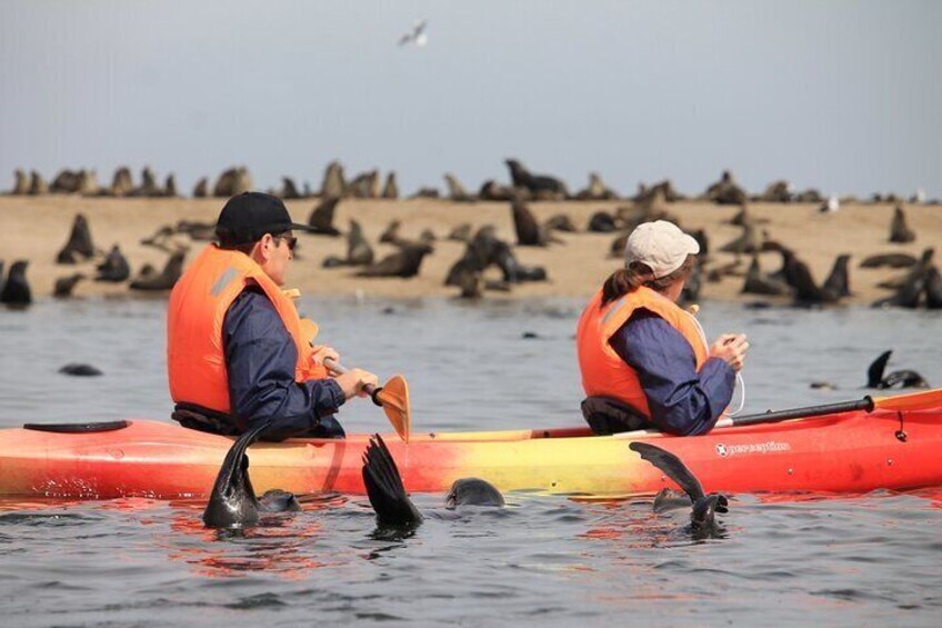
M 670 480 L 629 449 L 667 449 L 708 491 L 865 492 L 942 485 L 942 403 L 916 409 L 839 412 L 705 436 L 585 428 L 414 433 L 384 437 L 409 491 L 443 492 L 479 477 L 499 489 L 595 497 L 653 494 Z M 362 494 L 368 436 L 292 439 L 249 450 L 257 491 Z M 104 499 L 200 498 L 210 492 L 232 439 L 177 425 L 129 419 L 111 431 L 0 430 L 0 496 Z

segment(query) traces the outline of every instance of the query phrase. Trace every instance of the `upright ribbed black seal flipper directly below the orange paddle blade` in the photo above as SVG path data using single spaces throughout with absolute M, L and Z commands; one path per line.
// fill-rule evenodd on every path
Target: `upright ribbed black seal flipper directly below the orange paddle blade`
M 381 526 L 412 527 L 422 515 L 405 494 L 402 476 L 382 437 L 374 435 L 363 451 L 363 484 Z

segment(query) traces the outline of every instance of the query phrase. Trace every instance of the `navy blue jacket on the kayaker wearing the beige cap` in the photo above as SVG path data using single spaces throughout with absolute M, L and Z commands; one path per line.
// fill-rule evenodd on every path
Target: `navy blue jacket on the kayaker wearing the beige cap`
M 638 310 L 609 340 L 638 373 L 651 422 L 681 436 L 706 433 L 729 406 L 735 371 L 709 358 L 697 372 L 697 356 L 680 331 L 649 310 Z

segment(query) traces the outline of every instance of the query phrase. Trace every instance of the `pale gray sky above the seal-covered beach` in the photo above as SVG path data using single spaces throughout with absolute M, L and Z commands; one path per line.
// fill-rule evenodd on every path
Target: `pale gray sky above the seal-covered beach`
M 399 48 L 418 19 L 424 48 Z M 0 189 L 324 166 L 942 196 L 942 2 L 0 0 Z

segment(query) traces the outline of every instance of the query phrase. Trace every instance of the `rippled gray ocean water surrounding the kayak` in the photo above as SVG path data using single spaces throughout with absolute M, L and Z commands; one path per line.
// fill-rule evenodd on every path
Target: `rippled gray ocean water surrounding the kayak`
M 578 425 L 573 300 L 469 305 L 308 299 L 348 366 L 407 377 L 423 430 Z M 42 301 L 0 310 L 0 428 L 169 420 L 166 302 Z M 860 398 L 866 367 L 942 385 L 938 312 L 703 303 L 708 336 L 745 331 L 744 411 Z M 524 338 L 535 336 L 535 338 Z M 58 373 L 87 362 L 102 377 Z M 810 388 L 828 381 L 830 390 Z M 736 395 L 736 399 L 739 393 Z M 385 430 L 355 400 L 348 431 Z M 709 488 L 709 487 L 708 487 Z M 365 498 L 315 496 L 241 535 L 206 530 L 200 502 L 0 502 L 3 626 L 585 625 L 938 626 L 939 490 L 843 498 L 733 496 L 720 538 L 650 501 L 508 495 L 378 535 Z

